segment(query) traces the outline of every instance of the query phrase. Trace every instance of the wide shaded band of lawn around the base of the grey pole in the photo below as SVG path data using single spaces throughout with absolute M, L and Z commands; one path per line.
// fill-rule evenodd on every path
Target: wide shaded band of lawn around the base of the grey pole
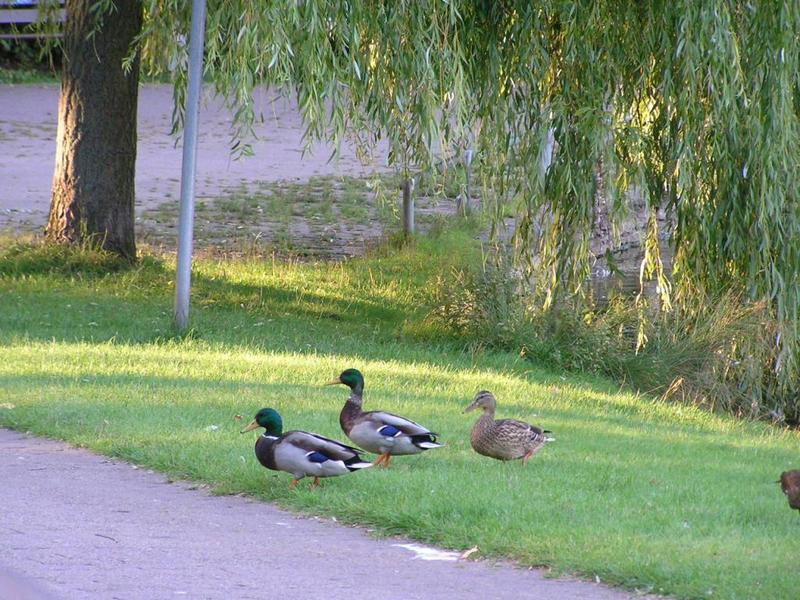
M 326 293 L 196 273 L 193 329 L 190 335 L 178 334 L 172 324 L 174 271 L 162 260 L 148 256 L 130 265 L 100 250 L 37 243 L 0 244 L 0 248 L 0 344 L 22 340 L 146 346 L 199 339 L 250 351 L 350 355 L 439 366 L 460 363 L 465 369 L 480 364 L 524 377 L 532 367 L 511 354 L 469 354 L 463 341 L 455 339 L 432 342 L 404 336 L 404 324 L 419 318 L 424 307 L 371 295 L 363 287 L 348 297 L 341 284 L 332 284 Z M 393 268 L 387 267 L 384 281 L 391 283 Z M 366 271 L 350 276 L 358 278 Z M 311 282 L 309 287 L 315 285 L 313 275 Z M 539 375 L 549 379 L 544 371 Z M 588 391 L 611 389 L 600 380 L 585 379 L 581 385 Z M 553 382 L 558 383 L 555 376 Z M 574 376 L 570 383 L 575 385 Z

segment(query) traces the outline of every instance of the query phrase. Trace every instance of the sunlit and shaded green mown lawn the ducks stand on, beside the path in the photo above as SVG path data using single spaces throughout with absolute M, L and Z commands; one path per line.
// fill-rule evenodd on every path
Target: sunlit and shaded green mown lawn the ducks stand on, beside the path
M 800 436 L 464 351 L 425 315 L 437 278 L 477 259 L 467 231 L 338 264 L 205 259 L 181 339 L 168 260 L 103 274 L 102 258 L 3 242 L 0 425 L 554 573 L 686 598 L 796 597 L 800 517 L 775 480 L 800 466 Z M 322 384 L 346 367 L 365 375 L 367 410 L 447 445 L 290 491 L 238 431 L 272 406 L 287 428 L 344 439 L 348 390 Z M 500 417 L 557 441 L 527 468 L 473 453 L 475 415 L 461 411 L 482 388 Z

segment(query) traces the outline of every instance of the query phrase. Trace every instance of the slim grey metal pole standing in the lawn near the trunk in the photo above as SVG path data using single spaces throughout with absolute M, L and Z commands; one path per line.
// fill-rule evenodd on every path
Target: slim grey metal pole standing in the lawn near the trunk
M 197 120 L 203 83 L 203 43 L 206 0 L 192 0 L 192 31 L 189 38 L 189 90 L 186 96 L 181 165 L 181 214 L 178 221 L 178 267 L 175 281 L 175 325 L 189 325 L 189 291 L 192 283 L 192 233 L 194 228 L 194 176 L 197 159 Z

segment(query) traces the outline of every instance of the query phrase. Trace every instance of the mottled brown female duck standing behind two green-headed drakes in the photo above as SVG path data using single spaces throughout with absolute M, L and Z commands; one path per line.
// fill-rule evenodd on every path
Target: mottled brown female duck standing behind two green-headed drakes
M 478 454 L 498 460 L 521 458 L 522 464 L 527 465 L 530 457 L 536 454 L 545 442 L 552 441 L 553 438 L 545 435 L 551 432 L 516 419 L 495 420 L 496 407 L 497 400 L 494 394 L 482 390 L 464 409 L 465 413 L 476 408 L 483 409 L 481 418 L 475 422 L 470 434 L 472 448 Z

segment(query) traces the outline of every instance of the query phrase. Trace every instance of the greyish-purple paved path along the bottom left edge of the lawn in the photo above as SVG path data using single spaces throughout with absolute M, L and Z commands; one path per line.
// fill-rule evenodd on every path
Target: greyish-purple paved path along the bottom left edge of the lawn
M 628 597 L 403 544 L 0 429 L 2 600 Z

